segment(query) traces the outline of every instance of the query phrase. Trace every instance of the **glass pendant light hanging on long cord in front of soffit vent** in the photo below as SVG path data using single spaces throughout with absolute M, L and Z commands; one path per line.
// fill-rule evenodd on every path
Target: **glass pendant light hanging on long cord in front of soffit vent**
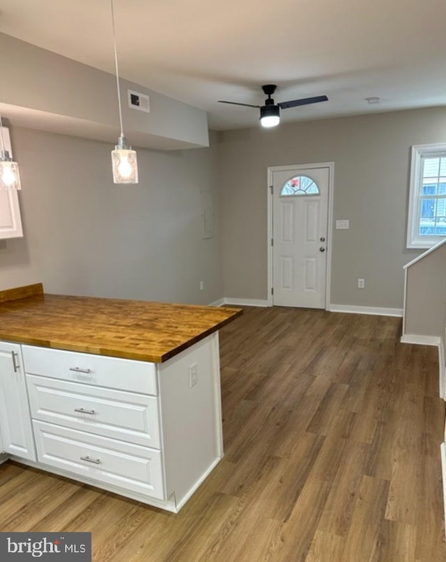
M 121 109 L 121 91 L 119 90 L 119 70 L 118 70 L 118 53 L 116 51 L 116 33 L 114 28 L 114 9 L 113 0 L 110 0 L 112 7 L 112 28 L 113 28 L 113 47 L 114 47 L 114 65 L 116 70 L 116 88 L 118 90 L 118 108 L 119 108 L 119 124 L 121 125 L 121 134 L 119 135 L 118 144 L 112 150 L 112 170 L 114 183 L 138 183 L 138 162 L 136 150 L 132 150 L 128 146 L 123 130 L 123 114 Z

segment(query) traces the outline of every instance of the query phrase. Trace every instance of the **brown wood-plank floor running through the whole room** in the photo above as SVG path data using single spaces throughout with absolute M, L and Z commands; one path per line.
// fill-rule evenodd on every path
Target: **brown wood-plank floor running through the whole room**
M 178 515 L 13 462 L 1 531 L 95 562 L 444 562 L 436 348 L 401 320 L 245 309 L 220 332 L 225 456 Z

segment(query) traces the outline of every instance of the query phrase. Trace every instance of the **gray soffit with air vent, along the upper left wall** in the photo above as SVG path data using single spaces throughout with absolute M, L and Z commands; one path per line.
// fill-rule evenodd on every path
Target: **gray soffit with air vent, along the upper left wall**
M 3 116 L 15 125 L 116 143 L 116 77 L 0 33 Z M 206 111 L 120 80 L 128 142 L 146 148 L 208 146 Z M 88 85 L 88 87 L 86 87 Z M 150 98 L 150 113 L 128 106 L 127 91 Z M 31 125 L 30 123 L 38 123 Z

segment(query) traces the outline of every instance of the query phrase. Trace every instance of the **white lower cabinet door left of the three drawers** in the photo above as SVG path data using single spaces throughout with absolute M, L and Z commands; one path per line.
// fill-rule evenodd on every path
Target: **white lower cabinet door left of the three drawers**
M 22 352 L 17 343 L 0 342 L 0 430 L 3 450 L 36 460 Z

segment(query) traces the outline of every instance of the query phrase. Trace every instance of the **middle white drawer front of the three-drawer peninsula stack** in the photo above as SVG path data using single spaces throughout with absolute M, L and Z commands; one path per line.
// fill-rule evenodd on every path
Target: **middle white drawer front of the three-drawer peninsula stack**
M 155 396 L 26 375 L 31 416 L 112 439 L 160 448 Z

